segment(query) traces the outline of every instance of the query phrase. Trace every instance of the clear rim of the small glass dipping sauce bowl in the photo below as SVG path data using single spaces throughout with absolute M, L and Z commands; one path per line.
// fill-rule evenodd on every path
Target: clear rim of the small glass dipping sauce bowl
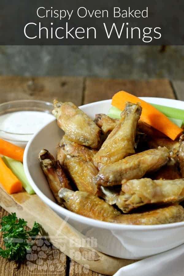
M 9 104 L 14 104 L 14 103 L 30 103 L 30 102 L 33 102 L 33 103 L 40 103 L 40 104 L 45 104 L 46 106 L 53 106 L 53 104 L 51 102 L 46 102 L 46 101 L 40 101 L 40 100 L 15 100 L 15 101 L 9 101 L 9 102 L 3 102 L 0 104 L 0 108 L 3 106 L 3 105 L 9 105 Z M 30 111 L 30 110 L 27 110 L 27 111 Z M 47 113 L 47 111 L 40 111 L 40 112 L 45 112 Z M 0 129 L 0 132 L 2 133 L 7 133 L 7 134 L 10 134 L 10 135 L 17 135 L 17 136 L 21 136 L 21 137 L 24 137 L 24 136 L 28 136 L 28 135 L 33 135 L 34 133 L 16 133 L 16 132 L 8 132 L 6 130 L 2 130 Z M 9 139 L 10 140 L 10 139 Z M 17 141 L 17 140 L 10 140 L 10 141 Z M 21 142 L 27 142 L 26 141 L 21 141 Z

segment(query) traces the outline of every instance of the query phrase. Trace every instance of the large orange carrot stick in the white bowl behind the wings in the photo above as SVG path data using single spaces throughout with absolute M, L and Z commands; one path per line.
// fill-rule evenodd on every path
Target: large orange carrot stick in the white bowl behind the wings
M 125 107 L 125 102 L 140 102 L 142 106 L 142 114 L 140 120 L 156 128 L 160 132 L 167 135 L 172 140 L 182 132 L 182 128 L 172 123 L 163 113 L 158 111 L 155 107 L 147 102 L 137 98 L 136 96 L 129 94 L 125 91 L 120 91 L 116 93 L 112 98 L 112 105 L 123 110 Z

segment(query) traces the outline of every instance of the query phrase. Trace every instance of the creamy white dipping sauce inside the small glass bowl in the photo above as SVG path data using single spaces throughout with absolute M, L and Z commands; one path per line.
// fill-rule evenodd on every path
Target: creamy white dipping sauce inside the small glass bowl
M 0 130 L 17 134 L 33 134 L 52 120 L 52 114 L 40 111 L 7 113 L 0 116 Z

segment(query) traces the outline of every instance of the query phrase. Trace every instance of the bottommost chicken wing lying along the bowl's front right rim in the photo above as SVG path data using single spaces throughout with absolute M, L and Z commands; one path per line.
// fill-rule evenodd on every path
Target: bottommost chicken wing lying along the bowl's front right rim
M 154 225 L 174 223 L 184 220 L 184 209 L 181 205 L 171 205 L 144 213 L 120 215 L 109 219 L 109 222 L 136 225 Z

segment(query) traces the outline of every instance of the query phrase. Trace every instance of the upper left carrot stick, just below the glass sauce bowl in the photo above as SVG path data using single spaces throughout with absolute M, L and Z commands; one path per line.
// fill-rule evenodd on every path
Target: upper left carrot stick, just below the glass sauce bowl
M 23 162 L 24 149 L 0 139 L 0 154 Z

